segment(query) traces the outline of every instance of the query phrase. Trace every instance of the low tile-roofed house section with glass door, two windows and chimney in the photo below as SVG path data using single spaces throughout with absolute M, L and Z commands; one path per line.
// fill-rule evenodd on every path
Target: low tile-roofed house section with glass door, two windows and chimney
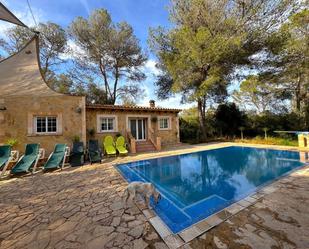
M 87 105 L 87 138 L 104 139 L 107 135 L 125 136 L 131 151 L 160 150 L 179 139 L 178 109 L 119 105 Z M 131 144 L 131 140 L 136 144 Z

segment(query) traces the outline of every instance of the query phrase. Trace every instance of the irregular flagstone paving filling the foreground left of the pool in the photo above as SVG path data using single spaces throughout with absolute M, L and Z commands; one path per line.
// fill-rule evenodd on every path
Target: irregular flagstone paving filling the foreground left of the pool
M 0 248 L 164 248 L 126 185 L 111 164 L 1 182 Z

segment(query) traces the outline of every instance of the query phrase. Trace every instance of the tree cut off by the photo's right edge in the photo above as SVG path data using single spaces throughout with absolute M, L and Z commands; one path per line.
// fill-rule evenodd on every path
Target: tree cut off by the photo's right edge
M 291 94 L 294 110 L 302 112 L 308 105 L 309 89 L 309 10 L 290 16 L 268 39 L 261 76 Z

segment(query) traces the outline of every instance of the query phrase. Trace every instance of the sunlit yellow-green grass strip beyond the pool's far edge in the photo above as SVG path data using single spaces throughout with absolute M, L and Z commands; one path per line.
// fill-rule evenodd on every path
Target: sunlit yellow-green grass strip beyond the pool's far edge
M 284 145 L 284 146 L 298 146 L 298 141 L 296 139 L 280 138 L 280 137 L 268 137 L 267 139 L 263 137 L 235 139 L 234 142 L 237 143 L 250 143 L 250 144 L 269 144 L 269 145 Z

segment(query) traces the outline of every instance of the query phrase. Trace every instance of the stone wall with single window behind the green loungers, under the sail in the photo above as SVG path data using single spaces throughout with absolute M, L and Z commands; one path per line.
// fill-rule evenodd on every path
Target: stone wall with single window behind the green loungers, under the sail
M 26 143 L 40 143 L 49 154 L 56 143 L 71 146 L 72 137 L 86 142 L 85 98 L 77 96 L 9 97 L 1 98 L 0 144 L 9 138 L 18 139 L 17 149 L 24 152 Z M 37 115 L 58 117 L 59 132 L 54 135 L 37 135 L 33 131 L 33 118 Z

